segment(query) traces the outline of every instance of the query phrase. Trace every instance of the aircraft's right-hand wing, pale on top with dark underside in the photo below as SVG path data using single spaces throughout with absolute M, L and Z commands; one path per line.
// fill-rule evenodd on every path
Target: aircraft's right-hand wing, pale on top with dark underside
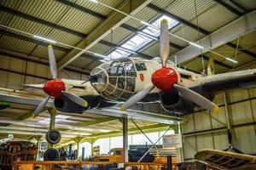
M 232 88 L 256 88 L 256 69 L 202 77 L 200 86 L 209 92 L 224 91 Z

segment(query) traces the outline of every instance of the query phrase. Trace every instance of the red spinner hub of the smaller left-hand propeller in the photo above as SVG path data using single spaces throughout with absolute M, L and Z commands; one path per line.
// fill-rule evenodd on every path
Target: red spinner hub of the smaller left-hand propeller
M 44 92 L 56 99 L 61 98 L 63 94 L 62 90 L 65 90 L 65 83 L 61 79 L 54 79 L 44 83 Z

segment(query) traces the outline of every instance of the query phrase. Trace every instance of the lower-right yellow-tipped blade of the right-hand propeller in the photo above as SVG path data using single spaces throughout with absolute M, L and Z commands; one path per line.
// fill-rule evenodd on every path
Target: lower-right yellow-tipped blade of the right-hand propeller
M 212 111 L 214 113 L 218 112 L 218 105 L 212 103 L 212 101 L 203 97 L 202 95 L 195 93 L 193 90 L 190 90 L 189 88 L 184 88 L 177 84 L 173 84 L 173 88 L 177 88 L 178 92 L 183 94 L 185 98 L 193 101 L 196 105 L 200 105 L 202 108 L 205 108 L 208 111 Z

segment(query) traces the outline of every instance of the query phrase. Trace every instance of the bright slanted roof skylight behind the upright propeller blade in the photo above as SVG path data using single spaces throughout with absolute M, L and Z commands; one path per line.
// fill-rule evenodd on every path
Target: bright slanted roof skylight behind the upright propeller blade
M 168 21 L 168 28 L 171 29 L 173 26 L 176 26 L 178 22 L 172 20 L 172 18 L 162 15 L 158 20 L 155 20 L 151 25 L 160 28 L 160 21 L 166 19 Z M 148 35 L 148 36 L 146 36 Z M 121 57 L 127 57 L 133 54 L 131 51 L 137 51 L 139 48 L 143 48 L 149 42 L 156 40 L 160 36 L 160 31 L 156 30 L 150 26 L 147 26 L 141 32 L 131 37 L 129 40 L 124 42 L 121 45 L 121 48 L 116 48 L 111 54 L 108 54 L 108 57 L 102 59 L 103 62 L 108 61 L 109 59 L 119 59 Z M 126 50 L 127 49 L 127 50 Z

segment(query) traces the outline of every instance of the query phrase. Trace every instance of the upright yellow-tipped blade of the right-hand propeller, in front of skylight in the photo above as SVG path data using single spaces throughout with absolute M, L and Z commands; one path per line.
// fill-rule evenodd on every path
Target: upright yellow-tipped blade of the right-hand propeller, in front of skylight
M 160 23 L 160 58 L 162 61 L 163 67 L 166 67 L 166 62 L 169 57 L 169 31 L 168 31 L 168 22 L 167 20 L 161 20 Z

